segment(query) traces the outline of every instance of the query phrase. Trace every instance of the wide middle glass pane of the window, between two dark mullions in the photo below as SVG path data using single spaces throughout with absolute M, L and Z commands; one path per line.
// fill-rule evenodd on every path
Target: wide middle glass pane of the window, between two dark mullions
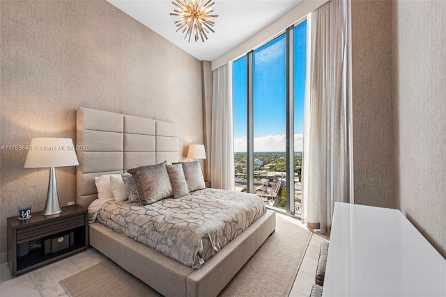
M 254 51 L 254 193 L 286 210 L 286 36 Z

